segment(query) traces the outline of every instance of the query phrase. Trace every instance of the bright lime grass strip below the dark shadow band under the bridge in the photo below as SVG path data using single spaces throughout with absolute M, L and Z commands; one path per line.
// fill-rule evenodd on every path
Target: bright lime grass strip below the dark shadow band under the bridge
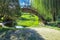
M 22 26 L 37 26 L 38 25 L 38 21 L 31 21 L 31 20 L 29 20 L 29 21 L 22 21 L 22 20 L 20 20 L 20 21 L 18 21 L 18 23 L 17 23 L 19 26 L 20 25 L 22 25 Z

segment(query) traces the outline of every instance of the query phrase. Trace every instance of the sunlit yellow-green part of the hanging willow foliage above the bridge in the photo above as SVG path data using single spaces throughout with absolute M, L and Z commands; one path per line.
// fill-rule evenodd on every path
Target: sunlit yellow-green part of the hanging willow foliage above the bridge
M 41 15 L 43 15 L 43 17 L 46 20 L 50 20 L 50 19 L 52 19 L 52 15 L 49 12 L 49 10 L 46 9 L 47 7 L 45 7 L 46 4 L 44 2 L 46 2 L 46 0 L 45 1 L 44 0 L 34 0 L 34 2 L 32 2 L 32 7 L 34 7 L 35 9 L 37 9 L 37 11 Z

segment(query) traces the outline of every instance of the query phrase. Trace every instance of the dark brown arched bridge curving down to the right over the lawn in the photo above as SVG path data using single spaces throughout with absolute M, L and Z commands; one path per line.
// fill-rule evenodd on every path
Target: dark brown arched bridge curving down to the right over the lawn
M 22 12 L 32 13 L 32 14 L 38 16 L 39 17 L 39 20 L 42 20 L 42 22 L 44 24 L 47 23 L 46 20 L 44 19 L 44 17 L 42 15 L 40 15 L 40 13 L 38 13 L 36 9 L 33 9 L 33 8 L 21 8 L 21 11 Z

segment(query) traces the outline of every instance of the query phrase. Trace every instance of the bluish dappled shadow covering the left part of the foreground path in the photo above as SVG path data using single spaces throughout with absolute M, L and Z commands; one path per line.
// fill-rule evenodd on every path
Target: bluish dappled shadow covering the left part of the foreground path
M 44 40 L 44 38 L 32 29 L 0 30 L 0 40 Z

